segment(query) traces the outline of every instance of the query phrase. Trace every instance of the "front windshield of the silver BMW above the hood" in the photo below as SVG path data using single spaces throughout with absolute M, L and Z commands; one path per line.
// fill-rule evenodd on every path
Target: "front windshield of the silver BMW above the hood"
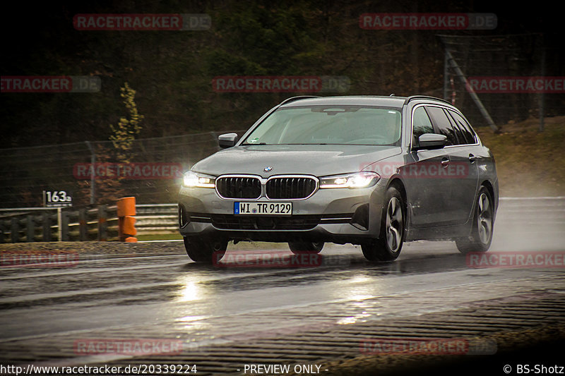
M 278 109 L 242 145 L 399 145 L 400 111 L 379 107 Z

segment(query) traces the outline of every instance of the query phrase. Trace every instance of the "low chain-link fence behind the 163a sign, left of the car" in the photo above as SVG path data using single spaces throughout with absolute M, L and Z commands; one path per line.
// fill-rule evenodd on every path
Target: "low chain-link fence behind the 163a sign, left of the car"
M 124 149 L 110 141 L 3 149 L 0 207 L 41 207 L 68 197 L 73 206 L 125 196 L 140 204 L 176 202 L 182 173 L 219 149 L 219 134 L 133 140 L 126 160 Z

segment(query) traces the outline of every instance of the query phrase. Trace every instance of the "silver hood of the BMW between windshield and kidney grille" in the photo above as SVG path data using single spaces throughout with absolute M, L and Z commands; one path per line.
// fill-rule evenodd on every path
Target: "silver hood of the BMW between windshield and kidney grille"
M 250 145 L 230 147 L 202 159 L 193 171 L 214 176 L 281 174 L 326 176 L 361 171 L 364 166 L 400 154 L 400 147 L 374 145 Z M 266 167 L 272 169 L 264 171 Z

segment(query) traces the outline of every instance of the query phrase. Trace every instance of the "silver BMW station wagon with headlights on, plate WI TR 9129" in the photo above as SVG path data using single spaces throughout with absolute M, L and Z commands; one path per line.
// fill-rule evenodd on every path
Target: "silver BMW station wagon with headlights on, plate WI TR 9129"
M 484 252 L 498 207 L 494 157 L 461 112 L 434 97 L 292 97 L 184 174 L 179 226 L 196 262 L 229 241 L 361 245 L 395 260 L 403 242 Z

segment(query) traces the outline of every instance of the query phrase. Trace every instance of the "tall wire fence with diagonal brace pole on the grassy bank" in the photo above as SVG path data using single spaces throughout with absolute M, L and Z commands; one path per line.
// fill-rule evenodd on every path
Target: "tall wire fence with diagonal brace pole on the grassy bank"
M 540 34 L 439 36 L 445 48 L 444 98 L 476 125 L 565 114 L 565 64 Z

